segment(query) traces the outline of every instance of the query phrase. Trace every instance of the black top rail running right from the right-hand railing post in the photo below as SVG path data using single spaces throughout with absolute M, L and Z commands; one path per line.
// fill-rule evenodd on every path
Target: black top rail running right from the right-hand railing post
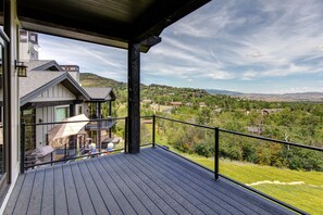
M 232 135 L 238 135 L 238 136 L 244 136 L 244 137 L 248 137 L 248 138 L 271 141 L 274 143 L 287 144 L 287 146 L 299 147 L 299 148 L 303 148 L 303 149 L 310 149 L 310 150 L 323 152 L 323 148 L 319 148 L 319 147 L 312 147 L 312 146 L 300 144 L 300 143 L 296 143 L 296 142 L 288 142 L 288 141 L 283 141 L 283 140 L 275 140 L 275 139 L 271 139 L 271 138 L 265 138 L 265 137 L 256 136 L 256 135 L 248 135 L 248 134 L 233 131 L 233 130 L 226 130 L 226 129 L 222 129 L 222 128 L 219 128 L 219 130 L 223 131 L 223 132 L 232 134 Z

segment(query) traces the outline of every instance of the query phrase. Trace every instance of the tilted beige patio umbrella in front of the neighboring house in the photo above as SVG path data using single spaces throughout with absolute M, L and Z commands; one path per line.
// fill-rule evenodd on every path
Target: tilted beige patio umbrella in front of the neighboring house
M 86 115 L 84 114 L 66 118 L 63 121 L 66 123 L 58 124 L 48 131 L 48 139 L 55 140 L 59 138 L 69 137 L 71 135 L 77 135 L 82 130 L 82 128 L 84 128 L 84 126 L 88 123 L 88 117 L 86 117 Z

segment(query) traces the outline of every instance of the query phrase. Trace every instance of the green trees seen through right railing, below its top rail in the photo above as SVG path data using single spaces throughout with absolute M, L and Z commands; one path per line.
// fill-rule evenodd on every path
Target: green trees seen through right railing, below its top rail
M 158 135 L 185 153 L 214 157 L 213 129 L 158 121 Z M 220 132 L 220 157 L 290 169 L 323 170 L 322 152 Z

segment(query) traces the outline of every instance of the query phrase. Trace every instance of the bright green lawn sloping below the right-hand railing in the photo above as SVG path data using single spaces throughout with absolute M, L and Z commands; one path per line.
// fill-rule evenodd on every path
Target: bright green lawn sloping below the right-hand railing
M 179 153 L 171 146 L 167 147 Z M 212 159 L 181 154 L 214 169 Z M 220 160 L 220 173 L 308 213 L 323 214 L 323 173 L 290 170 L 228 160 Z

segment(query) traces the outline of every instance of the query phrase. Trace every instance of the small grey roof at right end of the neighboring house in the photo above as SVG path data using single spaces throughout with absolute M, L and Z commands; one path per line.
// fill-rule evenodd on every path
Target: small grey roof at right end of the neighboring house
M 84 87 L 83 88 L 89 96 L 91 101 L 113 101 L 115 93 L 111 87 Z

